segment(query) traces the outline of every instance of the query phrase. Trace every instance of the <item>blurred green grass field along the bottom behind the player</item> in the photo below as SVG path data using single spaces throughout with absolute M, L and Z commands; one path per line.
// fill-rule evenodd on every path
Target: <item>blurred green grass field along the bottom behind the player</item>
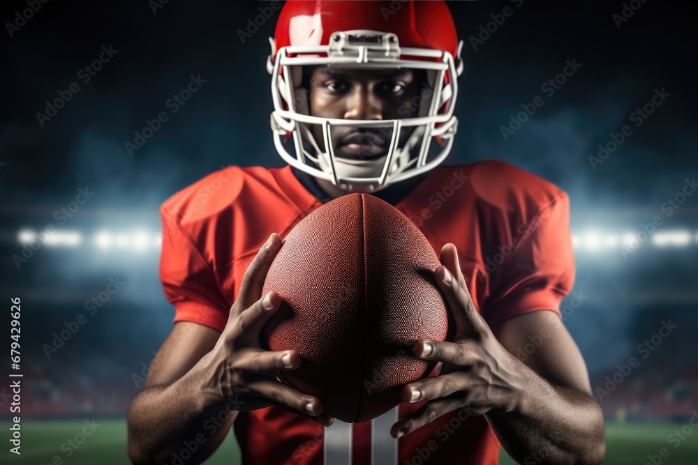
M 669 457 L 662 459 L 667 465 L 698 464 L 698 432 L 686 436 L 678 447 L 669 443 L 667 436 L 683 425 L 608 425 L 607 459 L 605 464 L 644 465 L 647 455 L 657 455 L 660 448 L 669 449 Z M 104 421 L 94 429 L 94 434 L 84 439 L 77 449 L 68 445 L 68 439 L 82 441 L 81 431 L 85 427 L 80 421 L 22 422 L 22 455 L 9 452 L 8 423 L 3 423 L 3 450 L 0 464 L 51 464 L 55 465 L 109 465 L 128 464 L 126 455 L 126 423 L 124 421 Z M 688 427 L 686 429 L 688 431 Z M 89 431 L 89 429 L 88 429 Z M 77 438 L 75 437 L 77 435 Z M 63 444 L 63 450 L 61 445 Z M 70 457 L 68 457 L 70 454 Z M 58 459 L 54 459 L 58 457 Z M 207 464 L 239 464 L 239 452 L 232 434 L 223 446 L 216 451 Z M 514 464 L 503 452 L 500 464 Z

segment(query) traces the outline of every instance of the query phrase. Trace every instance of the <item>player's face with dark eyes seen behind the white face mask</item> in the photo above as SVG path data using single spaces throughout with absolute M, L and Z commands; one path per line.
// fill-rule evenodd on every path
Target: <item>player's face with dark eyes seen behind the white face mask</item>
M 332 119 L 386 120 L 417 116 L 415 102 L 426 82 L 424 70 L 313 68 L 310 77 L 310 114 Z M 315 141 L 325 150 L 322 128 L 311 125 Z M 401 131 L 399 145 L 413 128 Z M 386 155 L 392 128 L 332 126 L 334 153 L 341 158 L 373 160 Z

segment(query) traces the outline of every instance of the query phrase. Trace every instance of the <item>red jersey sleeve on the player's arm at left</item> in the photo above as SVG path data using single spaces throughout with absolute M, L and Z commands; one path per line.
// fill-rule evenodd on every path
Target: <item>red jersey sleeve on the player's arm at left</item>
M 214 270 L 164 208 L 161 217 L 160 280 L 165 296 L 174 305 L 174 322 L 193 321 L 222 332 L 230 305 L 223 297 Z

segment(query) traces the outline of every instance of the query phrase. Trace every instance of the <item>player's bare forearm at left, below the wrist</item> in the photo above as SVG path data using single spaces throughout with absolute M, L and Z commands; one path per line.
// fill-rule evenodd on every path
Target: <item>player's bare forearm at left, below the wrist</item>
M 198 464 L 225 439 L 237 411 L 235 399 L 224 399 L 214 386 L 212 358 L 204 356 L 177 381 L 146 388 L 133 400 L 128 454 L 134 464 L 168 464 L 184 449 L 191 452 L 186 462 Z

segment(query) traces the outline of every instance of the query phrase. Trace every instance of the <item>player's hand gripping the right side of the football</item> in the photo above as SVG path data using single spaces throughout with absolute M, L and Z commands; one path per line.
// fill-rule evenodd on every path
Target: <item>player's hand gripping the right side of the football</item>
M 438 376 L 403 387 L 403 402 L 429 402 L 393 425 L 390 433 L 395 438 L 457 409 L 468 416 L 512 411 L 521 397 L 523 364 L 498 342 L 477 312 L 453 244 L 443 246 L 440 261 L 443 266 L 434 277 L 453 314 L 456 336 L 454 342 L 415 344 L 415 357 L 442 362 L 443 367 Z

